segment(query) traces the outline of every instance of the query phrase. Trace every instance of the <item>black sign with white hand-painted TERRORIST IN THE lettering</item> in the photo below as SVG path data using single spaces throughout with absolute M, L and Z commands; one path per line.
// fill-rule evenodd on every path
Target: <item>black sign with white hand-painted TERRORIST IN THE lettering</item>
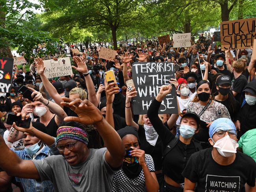
M 170 78 L 175 78 L 174 64 L 170 62 L 140 62 L 133 63 L 133 82 L 138 91 L 133 98 L 133 113 L 147 114 L 153 99 L 159 93 L 162 85 L 169 85 Z M 175 87 L 161 103 L 159 114 L 177 114 L 177 99 Z

